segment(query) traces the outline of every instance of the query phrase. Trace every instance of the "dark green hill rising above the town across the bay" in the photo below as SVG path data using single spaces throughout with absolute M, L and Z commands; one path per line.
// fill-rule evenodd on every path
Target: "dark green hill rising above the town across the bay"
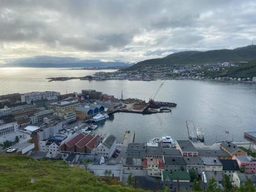
M 144 68 L 153 65 L 204 65 L 217 62 L 238 62 L 256 59 L 256 45 L 210 51 L 183 51 L 163 58 L 140 61 L 126 70 Z

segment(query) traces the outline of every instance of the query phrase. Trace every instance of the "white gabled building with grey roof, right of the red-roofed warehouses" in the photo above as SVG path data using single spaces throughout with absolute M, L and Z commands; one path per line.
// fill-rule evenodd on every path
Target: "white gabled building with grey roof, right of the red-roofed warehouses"
M 108 134 L 104 138 L 100 138 L 100 142 L 92 150 L 92 154 L 101 155 L 105 158 L 110 158 L 116 150 L 116 137 Z

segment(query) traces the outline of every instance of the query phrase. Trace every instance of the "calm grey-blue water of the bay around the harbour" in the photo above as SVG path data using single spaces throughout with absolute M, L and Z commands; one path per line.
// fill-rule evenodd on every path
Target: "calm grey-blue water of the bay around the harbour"
M 110 71 L 110 70 L 104 70 Z M 140 115 L 116 113 L 101 122 L 95 133 L 112 133 L 123 139 L 125 130 L 136 131 L 136 142 L 144 142 L 156 136 L 170 135 L 175 139 L 187 139 L 186 119 L 194 120 L 205 129 L 206 143 L 224 139 L 243 141 L 244 131 L 256 131 L 256 84 L 225 83 L 195 80 L 166 81 L 69 81 L 48 82 L 47 77 L 86 76 L 96 71 L 60 70 L 52 68 L 0 68 L 0 94 L 31 91 L 81 92 L 95 89 L 124 98 L 148 98 L 164 86 L 155 100 L 176 102 L 172 113 Z M 225 134 L 229 131 L 229 134 Z

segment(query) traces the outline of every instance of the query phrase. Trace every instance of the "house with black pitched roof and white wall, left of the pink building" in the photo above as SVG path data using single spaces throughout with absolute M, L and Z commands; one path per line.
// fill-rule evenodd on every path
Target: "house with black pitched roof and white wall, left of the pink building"
M 233 173 L 240 172 L 238 162 L 232 159 L 220 159 L 220 162 L 222 163 L 223 173 L 225 175 L 228 175 L 230 178 L 230 181 L 232 181 Z

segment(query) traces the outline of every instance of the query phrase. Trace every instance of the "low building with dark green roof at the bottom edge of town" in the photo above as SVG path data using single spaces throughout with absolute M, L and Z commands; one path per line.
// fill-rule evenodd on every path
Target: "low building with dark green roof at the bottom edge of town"
M 188 172 L 162 172 L 162 181 L 179 181 L 179 182 L 189 182 L 190 176 Z

